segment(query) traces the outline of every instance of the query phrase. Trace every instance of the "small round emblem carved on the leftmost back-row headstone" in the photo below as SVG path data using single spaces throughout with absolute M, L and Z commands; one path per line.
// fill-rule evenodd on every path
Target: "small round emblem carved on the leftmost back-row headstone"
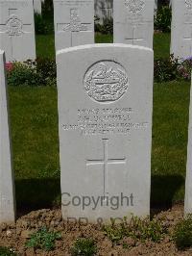
M 21 20 L 16 15 L 12 15 L 7 22 L 7 33 L 10 36 L 19 36 L 22 34 L 22 26 Z

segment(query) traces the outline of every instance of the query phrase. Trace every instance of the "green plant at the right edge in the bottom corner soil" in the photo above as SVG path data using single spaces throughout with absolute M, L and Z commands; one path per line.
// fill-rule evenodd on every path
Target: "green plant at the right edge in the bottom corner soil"
M 175 226 L 173 240 L 179 249 L 192 246 L 192 215 L 180 220 Z

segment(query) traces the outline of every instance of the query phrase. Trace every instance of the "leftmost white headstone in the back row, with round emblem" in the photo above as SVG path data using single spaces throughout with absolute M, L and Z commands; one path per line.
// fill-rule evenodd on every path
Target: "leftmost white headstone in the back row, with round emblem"
M 0 0 L 0 48 L 7 62 L 36 59 L 32 0 Z

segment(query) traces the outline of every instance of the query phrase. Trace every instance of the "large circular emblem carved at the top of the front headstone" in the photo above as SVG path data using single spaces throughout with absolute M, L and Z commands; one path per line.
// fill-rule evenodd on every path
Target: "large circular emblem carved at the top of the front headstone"
M 93 64 L 84 75 L 84 89 L 90 98 L 98 102 L 108 103 L 120 99 L 128 86 L 125 68 L 113 61 Z

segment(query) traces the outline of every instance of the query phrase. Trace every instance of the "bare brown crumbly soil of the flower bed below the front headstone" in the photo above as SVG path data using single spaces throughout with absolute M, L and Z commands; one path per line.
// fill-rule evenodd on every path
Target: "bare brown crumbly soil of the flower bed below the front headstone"
M 155 218 L 162 219 L 171 231 L 174 225 L 183 218 L 183 206 L 176 205 L 171 210 L 156 214 Z M 59 231 L 61 234 L 61 239 L 56 241 L 56 247 L 51 252 L 27 248 L 25 245 L 30 235 L 42 226 Z M 59 209 L 34 211 L 18 218 L 16 223 L 0 225 L 0 245 L 11 247 L 18 255 L 71 255 L 70 249 L 79 238 L 93 239 L 97 244 L 97 255 L 192 255 L 192 249 L 178 250 L 168 235 L 160 243 L 147 241 L 134 244 L 132 238 L 124 238 L 114 245 L 108 240 L 101 226 L 66 223 L 62 221 Z M 125 243 L 129 245 L 129 248 L 124 248 Z

